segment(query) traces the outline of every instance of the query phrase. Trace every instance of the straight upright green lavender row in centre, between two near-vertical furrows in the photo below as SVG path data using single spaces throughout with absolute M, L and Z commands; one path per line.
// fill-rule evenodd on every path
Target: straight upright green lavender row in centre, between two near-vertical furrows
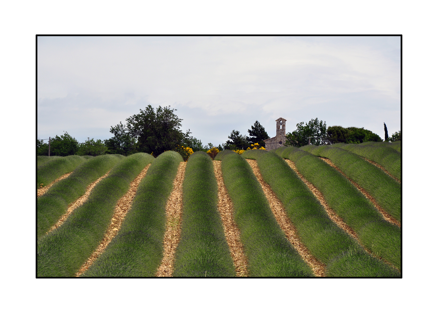
M 184 177 L 181 239 L 173 276 L 235 276 L 217 209 L 217 190 L 211 157 L 202 151 L 193 153 Z

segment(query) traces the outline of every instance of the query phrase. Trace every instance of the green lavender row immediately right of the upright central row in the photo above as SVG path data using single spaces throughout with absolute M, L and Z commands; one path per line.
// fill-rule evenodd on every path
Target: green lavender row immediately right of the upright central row
M 237 153 L 220 153 L 216 159 L 222 158 L 223 180 L 233 200 L 249 275 L 314 276 L 276 222 L 251 166 Z

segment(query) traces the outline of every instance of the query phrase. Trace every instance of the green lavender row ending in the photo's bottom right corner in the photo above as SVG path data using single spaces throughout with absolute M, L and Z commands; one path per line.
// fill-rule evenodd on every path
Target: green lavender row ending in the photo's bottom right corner
M 307 185 L 280 156 L 259 150 L 247 151 L 243 156 L 257 159 L 263 179 L 282 202 L 301 241 L 326 264 L 326 276 L 400 276 L 389 265 L 368 255 L 356 240 L 332 222 Z

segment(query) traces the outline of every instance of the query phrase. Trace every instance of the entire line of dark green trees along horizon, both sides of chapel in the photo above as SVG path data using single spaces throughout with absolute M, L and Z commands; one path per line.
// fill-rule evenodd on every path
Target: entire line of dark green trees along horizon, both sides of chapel
M 158 156 L 165 151 L 179 152 L 183 157 L 193 150 L 205 151 L 213 147 L 222 151 L 224 149 L 237 150 L 246 149 L 251 145 L 258 143 L 265 146 L 264 140 L 268 139 L 268 133 L 265 128 L 255 121 L 248 134 L 241 134 L 240 131 L 233 130 L 228 136 L 228 140 L 218 146 L 212 143 L 202 145 L 202 141 L 191 136 L 190 129 L 186 132 L 180 130 L 182 119 L 175 114 L 176 109 L 170 109 L 170 106 L 158 106 L 154 110 L 148 105 L 145 110 L 134 114 L 126 119 L 126 124 L 120 122 L 116 126 L 111 126 L 109 131 L 113 137 L 105 140 L 88 138 L 83 143 L 79 143 L 74 137 L 64 131 L 64 134 L 51 138 L 50 155 L 68 156 L 68 155 L 89 155 L 98 156 L 102 154 L 121 154 L 128 156 L 137 152 L 145 152 Z M 401 131 L 388 136 L 385 127 L 385 141 L 401 141 Z M 367 141 L 383 141 L 377 134 L 372 131 L 357 127 L 326 127 L 325 121 L 318 118 L 310 120 L 308 123 L 300 122 L 297 129 L 286 134 L 287 141 L 285 145 L 303 146 L 310 143 L 313 145 L 333 144 L 338 142 L 345 143 L 362 143 Z M 191 150 L 189 150 L 189 148 Z M 48 155 L 49 144 L 43 140 L 37 140 L 37 155 Z

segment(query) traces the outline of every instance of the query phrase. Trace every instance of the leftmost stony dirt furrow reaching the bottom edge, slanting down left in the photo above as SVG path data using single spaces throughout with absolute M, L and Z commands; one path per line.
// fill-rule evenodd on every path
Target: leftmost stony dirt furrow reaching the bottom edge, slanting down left
M 108 229 L 106 229 L 105 235 L 102 238 L 102 241 L 100 242 L 97 249 L 91 254 L 91 256 L 87 259 L 86 262 L 84 262 L 81 265 L 81 268 L 79 268 L 78 272 L 76 273 L 76 276 L 81 276 L 82 273 L 85 272 L 90 266 L 93 264 L 93 262 L 105 251 L 108 244 L 113 240 L 113 238 L 117 235 L 118 231 L 120 230 L 120 227 L 123 223 L 123 220 L 128 213 L 128 211 L 131 209 L 132 201 L 134 200 L 135 194 L 137 193 L 138 185 L 140 184 L 141 180 L 146 176 L 146 173 L 148 172 L 148 168 L 151 164 L 148 164 L 141 172 L 138 174 L 138 176 L 134 179 L 134 181 L 131 181 L 131 184 L 129 185 L 129 190 L 126 194 L 124 194 L 118 201 L 116 208 L 114 209 L 113 217 L 111 218 L 111 223 L 109 224 Z M 109 172 L 108 172 L 109 173 Z M 108 175 L 106 173 L 104 176 L 106 177 Z M 100 179 L 102 179 L 101 177 Z

